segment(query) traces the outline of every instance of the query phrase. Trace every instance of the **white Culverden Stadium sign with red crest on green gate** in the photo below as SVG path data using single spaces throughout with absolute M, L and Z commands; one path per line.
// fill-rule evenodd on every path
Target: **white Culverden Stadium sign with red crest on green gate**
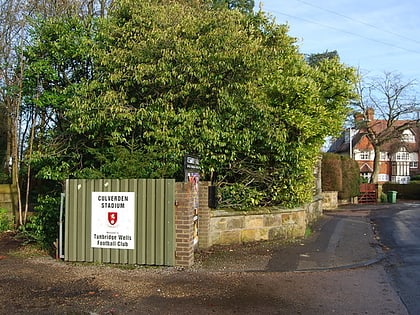
M 134 249 L 134 192 L 92 192 L 91 246 Z

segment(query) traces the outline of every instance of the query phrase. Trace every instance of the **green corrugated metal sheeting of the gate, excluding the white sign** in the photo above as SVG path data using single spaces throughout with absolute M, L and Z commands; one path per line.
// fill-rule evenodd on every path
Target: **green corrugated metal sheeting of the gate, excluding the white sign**
M 134 192 L 134 249 L 94 248 L 91 244 L 92 192 Z M 175 264 L 175 180 L 69 179 L 66 181 L 66 261 Z

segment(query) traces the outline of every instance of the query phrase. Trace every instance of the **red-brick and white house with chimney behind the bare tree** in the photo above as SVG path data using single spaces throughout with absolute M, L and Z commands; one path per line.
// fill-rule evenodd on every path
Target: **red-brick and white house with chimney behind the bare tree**
M 366 118 L 365 118 L 366 117 Z M 374 118 L 373 109 L 365 115 L 355 117 L 356 124 L 367 119 L 376 133 L 385 130 L 386 120 Z M 394 127 L 407 124 L 408 120 L 397 120 Z M 393 182 L 407 184 L 411 176 L 420 174 L 419 169 L 420 128 L 405 129 L 400 139 L 389 141 L 381 146 L 378 183 Z M 369 180 L 373 173 L 375 153 L 364 128 L 347 129 L 330 147 L 328 152 L 350 155 L 359 164 L 360 176 Z

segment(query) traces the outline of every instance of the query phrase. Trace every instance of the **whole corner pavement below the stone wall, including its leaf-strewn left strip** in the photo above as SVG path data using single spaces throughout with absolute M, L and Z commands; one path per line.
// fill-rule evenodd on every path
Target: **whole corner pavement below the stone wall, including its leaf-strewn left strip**
M 388 206 L 388 205 L 386 205 Z M 369 213 L 377 205 L 325 211 L 310 237 L 295 242 L 215 246 L 196 255 L 199 268 L 214 271 L 299 272 L 372 265 L 384 258 Z

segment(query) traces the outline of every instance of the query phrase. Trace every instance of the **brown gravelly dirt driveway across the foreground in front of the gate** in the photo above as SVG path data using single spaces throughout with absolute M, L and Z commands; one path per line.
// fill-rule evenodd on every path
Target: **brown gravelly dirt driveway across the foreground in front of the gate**
M 18 246 L 11 235 L 0 239 L 1 314 L 406 314 L 379 265 L 318 273 L 214 272 L 205 263 L 116 268 Z M 204 260 L 263 264 L 270 254 L 267 244 L 239 250 L 215 250 Z

